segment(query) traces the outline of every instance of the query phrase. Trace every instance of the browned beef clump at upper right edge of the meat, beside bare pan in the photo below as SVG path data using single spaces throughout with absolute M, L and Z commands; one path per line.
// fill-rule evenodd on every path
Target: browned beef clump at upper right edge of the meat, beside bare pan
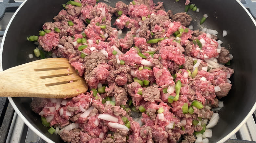
M 190 22 L 192 21 L 192 18 L 190 15 L 188 15 L 186 12 L 176 13 L 172 16 L 173 21 L 179 21 L 181 22 L 181 25 L 188 26 L 190 25 Z

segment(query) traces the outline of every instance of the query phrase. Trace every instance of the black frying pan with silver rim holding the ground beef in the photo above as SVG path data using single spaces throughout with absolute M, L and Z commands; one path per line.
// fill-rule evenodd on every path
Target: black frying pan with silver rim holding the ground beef
M 112 7 L 119 0 L 110 0 Z M 128 0 L 122 0 L 129 3 Z M 173 13 L 184 12 L 184 0 L 161 0 L 166 10 Z M 0 51 L 0 70 L 6 70 L 34 59 L 29 59 L 35 45 L 26 37 L 38 35 L 45 22 L 53 21 L 53 17 L 63 9 L 61 4 L 67 0 L 26 0 L 15 12 L 3 38 Z M 157 1 L 154 1 L 155 3 Z M 234 56 L 230 68 L 235 73 L 231 77 L 232 89 L 224 97 L 224 108 L 219 112 L 220 120 L 213 128 L 210 142 L 224 142 L 235 134 L 256 108 L 256 66 L 255 38 L 256 23 L 246 8 L 238 0 L 192 0 L 199 12 L 190 10 L 194 29 L 203 27 L 219 31 L 218 37 Z M 203 14 L 209 16 L 205 23 L 199 25 Z M 227 36 L 222 37 L 222 31 L 227 30 Z M 23 121 L 45 141 L 63 142 L 59 135 L 50 135 L 47 128 L 41 124 L 40 116 L 32 112 L 31 98 L 9 98 L 13 108 Z

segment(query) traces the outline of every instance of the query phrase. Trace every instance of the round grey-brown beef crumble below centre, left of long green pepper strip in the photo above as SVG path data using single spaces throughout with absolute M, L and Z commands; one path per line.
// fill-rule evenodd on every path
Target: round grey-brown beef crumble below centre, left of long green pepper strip
M 142 97 L 145 101 L 155 102 L 160 99 L 160 91 L 157 87 L 149 86 L 143 91 Z

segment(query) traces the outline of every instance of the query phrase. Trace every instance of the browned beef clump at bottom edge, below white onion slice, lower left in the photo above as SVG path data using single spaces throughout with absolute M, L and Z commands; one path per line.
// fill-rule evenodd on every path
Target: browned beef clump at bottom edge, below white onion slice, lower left
M 75 129 L 71 131 L 63 130 L 60 133 L 60 138 L 68 143 L 78 143 L 80 140 L 79 132 L 75 132 Z

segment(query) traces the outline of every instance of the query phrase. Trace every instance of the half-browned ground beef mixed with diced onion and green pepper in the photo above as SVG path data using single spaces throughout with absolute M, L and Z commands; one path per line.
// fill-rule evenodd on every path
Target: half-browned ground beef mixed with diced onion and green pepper
M 166 12 L 152 0 L 63 6 L 43 25 L 35 56 L 44 57 L 42 47 L 68 58 L 89 91 L 33 98 L 32 110 L 49 133 L 69 143 L 209 141 L 219 119 L 214 112 L 223 106 L 217 97 L 228 94 L 234 73 L 224 66 L 232 55 L 216 35 L 188 29 L 190 15 Z

